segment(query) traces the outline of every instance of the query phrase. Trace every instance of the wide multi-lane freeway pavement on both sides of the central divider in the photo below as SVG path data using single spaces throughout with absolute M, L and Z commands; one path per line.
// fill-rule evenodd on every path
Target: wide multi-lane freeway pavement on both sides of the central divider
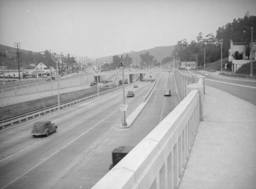
M 143 102 L 151 82 L 138 82 L 126 116 Z M 163 97 L 170 88 L 172 97 Z M 129 128 L 120 128 L 122 89 L 0 131 L 0 188 L 90 188 L 109 170 L 111 151 L 135 146 L 178 105 L 173 73 L 163 73 L 152 98 Z M 31 136 L 35 121 L 51 120 L 57 132 Z

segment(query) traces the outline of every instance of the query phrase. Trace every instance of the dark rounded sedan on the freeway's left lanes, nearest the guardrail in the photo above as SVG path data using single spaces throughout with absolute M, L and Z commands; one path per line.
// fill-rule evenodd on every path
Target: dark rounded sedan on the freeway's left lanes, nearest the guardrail
M 33 125 L 31 134 L 35 136 L 49 136 L 50 133 L 57 131 L 57 125 L 50 121 L 40 121 Z

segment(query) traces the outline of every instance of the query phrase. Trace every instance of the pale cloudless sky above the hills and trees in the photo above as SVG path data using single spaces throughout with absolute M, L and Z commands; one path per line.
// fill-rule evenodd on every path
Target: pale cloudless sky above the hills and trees
M 247 11 L 256 0 L 0 0 L 0 44 L 100 58 L 216 35 Z

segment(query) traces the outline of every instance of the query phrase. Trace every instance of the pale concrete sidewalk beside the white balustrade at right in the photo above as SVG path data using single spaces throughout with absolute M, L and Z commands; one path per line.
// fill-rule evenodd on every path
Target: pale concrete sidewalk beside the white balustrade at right
M 206 86 L 179 189 L 256 188 L 256 106 Z

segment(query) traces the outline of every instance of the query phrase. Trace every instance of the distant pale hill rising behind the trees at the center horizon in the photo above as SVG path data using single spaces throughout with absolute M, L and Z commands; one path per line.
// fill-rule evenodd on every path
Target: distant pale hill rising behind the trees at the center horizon
M 162 60 L 165 57 L 169 57 L 172 54 L 175 46 L 176 45 L 172 45 L 172 46 L 157 46 L 157 47 L 155 47 L 153 49 L 143 50 L 143 51 L 139 51 L 139 52 L 131 51 L 130 53 L 125 53 L 125 54 L 129 54 L 129 56 L 133 59 L 133 62 L 134 62 L 135 65 L 139 65 L 140 64 L 140 61 L 141 61 L 140 54 L 145 54 L 146 52 L 149 52 L 151 55 L 153 55 L 158 62 L 162 62 Z M 121 57 L 121 55 L 123 55 L 123 54 L 119 54 L 117 56 Z M 107 57 L 98 58 L 97 61 L 98 62 L 102 62 L 102 63 L 105 62 L 105 61 L 112 62 L 113 56 L 107 56 Z

